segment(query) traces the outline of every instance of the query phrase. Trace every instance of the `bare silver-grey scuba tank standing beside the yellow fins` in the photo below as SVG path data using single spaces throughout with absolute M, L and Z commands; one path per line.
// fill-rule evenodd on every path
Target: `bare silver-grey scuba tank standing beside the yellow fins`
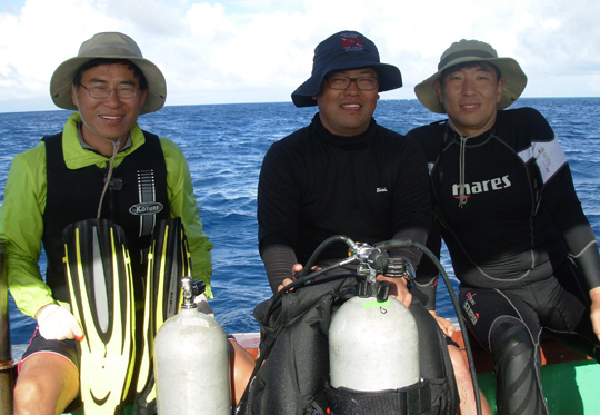
M 154 339 L 158 413 L 231 414 L 227 335 L 214 318 L 198 310 L 193 297 L 203 289 L 189 276 L 181 283 L 181 310 L 164 322 Z

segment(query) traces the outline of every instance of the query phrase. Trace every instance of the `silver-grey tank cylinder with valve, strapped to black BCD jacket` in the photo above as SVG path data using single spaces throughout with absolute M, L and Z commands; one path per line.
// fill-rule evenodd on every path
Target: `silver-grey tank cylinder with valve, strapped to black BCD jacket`
M 402 303 L 388 296 L 388 287 L 376 281 L 388 266 L 388 254 L 368 245 L 357 245 L 351 254 L 367 278 L 331 318 L 330 384 L 358 392 L 414 385 L 420 379 L 417 324 Z

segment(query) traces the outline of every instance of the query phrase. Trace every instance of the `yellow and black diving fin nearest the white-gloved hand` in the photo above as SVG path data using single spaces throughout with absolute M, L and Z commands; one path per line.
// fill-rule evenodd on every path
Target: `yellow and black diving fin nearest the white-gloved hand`
M 133 375 L 136 314 L 123 229 L 88 219 L 63 231 L 71 310 L 81 324 L 81 398 L 86 415 L 119 414 Z

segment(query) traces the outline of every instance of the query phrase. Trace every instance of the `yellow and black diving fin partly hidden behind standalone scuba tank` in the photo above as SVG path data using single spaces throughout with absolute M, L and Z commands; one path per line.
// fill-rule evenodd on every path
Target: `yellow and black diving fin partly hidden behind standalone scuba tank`
M 179 313 L 181 277 L 186 275 L 192 275 L 191 257 L 181 218 L 161 220 L 154 229 L 148 254 L 143 339 L 136 397 L 139 415 L 156 413 L 153 340 L 164 320 Z

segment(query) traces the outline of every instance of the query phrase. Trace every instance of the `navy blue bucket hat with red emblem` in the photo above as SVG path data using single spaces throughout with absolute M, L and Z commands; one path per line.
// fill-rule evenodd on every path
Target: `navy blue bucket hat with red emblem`
M 296 91 L 292 101 L 297 107 L 312 107 L 317 101 L 323 78 L 334 70 L 373 68 L 379 80 L 379 91 L 402 86 L 400 70 L 393 65 L 381 63 L 372 41 L 356 31 L 341 31 L 320 42 L 314 49 L 312 75 Z

